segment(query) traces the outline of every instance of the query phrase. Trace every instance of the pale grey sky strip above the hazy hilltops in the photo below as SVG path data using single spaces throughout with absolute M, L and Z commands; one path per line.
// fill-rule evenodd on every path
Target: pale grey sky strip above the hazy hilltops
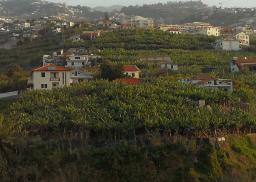
M 95 6 L 112 6 L 112 5 L 123 5 L 123 6 L 129 6 L 129 5 L 143 5 L 143 4 L 156 4 L 158 2 L 161 3 L 166 3 L 167 1 L 170 0 L 72 0 L 72 1 L 60 1 L 60 0 L 47 0 L 50 2 L 56 2 L 56 3 L 63 3 L 65 2 L 67 5 L 80 5 L 80 6 L 89 6 L 91 8 Z M 175 1 L 175 0 L 171 0 Z M 180 0 L 177 0 L 180 1 Z M 186 0 L 181 0 L 181 1 L 186 1 Z M 201 0 L 204 4 L 207 4 L 208 6 L 217 6 L 219 7 L 220 2 L 224 2 L 222 4 L 222 7 L 247 7 L 247 8 L 252 8 L 256 7 L 256 0 Z M 226 2 L 228 1 L 228 2 Z

